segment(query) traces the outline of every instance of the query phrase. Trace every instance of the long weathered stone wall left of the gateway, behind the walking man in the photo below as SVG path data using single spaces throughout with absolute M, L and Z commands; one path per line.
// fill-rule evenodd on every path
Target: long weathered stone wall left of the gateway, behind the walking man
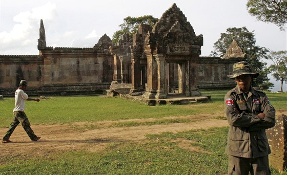
M 94 94 L 109 89 L 113 57 L 104 49 L 52 48 L 39 55 L 0 55 L 0 94 L 12 96 L 21 79 L 35 95 Z

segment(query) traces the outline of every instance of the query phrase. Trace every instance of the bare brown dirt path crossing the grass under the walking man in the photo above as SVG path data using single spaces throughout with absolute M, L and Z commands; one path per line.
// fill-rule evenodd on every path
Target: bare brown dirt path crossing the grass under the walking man
M 284 114 L 286 112 L 283 112 Z M 223 115 L 223 114 L 219 114 Z M 37 142 L 32 142 L 25 133 L 22 126 L 18 126 L 12 134 L 11 143 L 0 143 L 0 157 L 11 158 L 17 156 L 48 156 L 54 151 L 65 150 L 86 150 L 100 151 L 107 147 L 109 143 L 121 141 L 145 141 L 147 134 L 160 134 L 162 132 L 182 132 L 185 130 L 223 127 L 228 126 L 227 120 L 214 119 L 210 114 L 196 116 L 165 117 L 157 119 L 133 119 L 118 121 L 103 121 L 95 123 L 77 122 L 72 124 L 54 125 L 32 125 L 36 135 L 42 138 Z M 146 122 L 165 119 L 194 119 L 190 123 L 172 123 L 156 125 L 139 125 L 132 127 L 108 127 L 112 123 L 120 122 Z M 83 129 L 87 126 L 97 125 L 100 128 Z M 75 129 L 76 128 L 76 129 Z M 0 136 L 3 137 L 7 128 L 0 128 Z M 0 164 L 3 162 L 0 159 Z

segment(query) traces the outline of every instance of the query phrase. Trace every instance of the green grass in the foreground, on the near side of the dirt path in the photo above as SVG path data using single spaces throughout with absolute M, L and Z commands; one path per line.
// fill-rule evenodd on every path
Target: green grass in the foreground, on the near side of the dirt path
M 110 143 L 105 151 L 54 152 L 44 158 L 17 158 L 0 174 L 226 174 L 228 127 L 148 135 L 146 142 Z M 222 139 L 223 138 L 223 139 Z M 189 150 L 176 139 L 190 141 Z M 272 174 L 279 173 L 272 168 Z

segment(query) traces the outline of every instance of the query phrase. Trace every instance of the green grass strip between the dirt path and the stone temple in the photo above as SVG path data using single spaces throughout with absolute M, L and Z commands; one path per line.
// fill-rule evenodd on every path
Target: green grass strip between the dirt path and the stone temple
M 191 105 L 148 106 L 118 97 L 49 97 L 40 102 L 26 101 L 26 114 L 32 124 L 55 124 L 216 114 L 224 111 L 224 95 L 227 91 L 201 91 L 201 93 L 211 95 L 212 101 Z M 286 93 L 267 93 L 267 95 L 276 110 L 286 109 Z M 14 98 L 4 98 L 0 101 L 1 128 L 10 124 L 13 108 Z M 215 117 L 225 118 L 225 116 Z

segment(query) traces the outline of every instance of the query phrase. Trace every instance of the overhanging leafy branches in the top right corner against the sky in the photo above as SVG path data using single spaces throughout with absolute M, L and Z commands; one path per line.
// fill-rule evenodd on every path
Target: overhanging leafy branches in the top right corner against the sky
M 287 24 L 286 0 L 248 0 L 247 10 L 258 20 L 274 23 L 280 30 L 285 30 Z

